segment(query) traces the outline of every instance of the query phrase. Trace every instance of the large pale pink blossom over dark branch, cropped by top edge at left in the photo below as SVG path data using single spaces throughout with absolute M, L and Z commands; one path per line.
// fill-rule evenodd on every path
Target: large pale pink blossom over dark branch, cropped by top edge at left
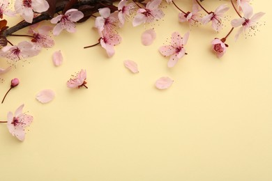
M 32 23 L 33 11 L 43 13 L 49 8 L 45 0 L 16 0 L 15 11 L 20 14 L 26 22 Z

